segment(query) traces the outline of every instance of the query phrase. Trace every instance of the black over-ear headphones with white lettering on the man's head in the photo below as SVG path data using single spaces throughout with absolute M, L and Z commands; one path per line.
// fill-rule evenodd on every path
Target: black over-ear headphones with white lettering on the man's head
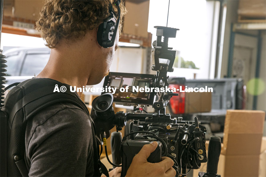
M 109 0 L 108 0 L 109 1 Z M 110 3 L 109 6 L 109 17 L 104 19 L 103 23 L 99 25 L 98 32 L 97 32 L 97 41 L 100 46 L 104 48 L 112 47 L 114 45 L 114 42 L 116 40 L 116 33 L 118 30 L 119 22 L 120 22 L 120 4 L 121 0 L 117 0 L 115 2 L 115 5 L 118 9 L 118 18 L 116 17 L 113 6 Z

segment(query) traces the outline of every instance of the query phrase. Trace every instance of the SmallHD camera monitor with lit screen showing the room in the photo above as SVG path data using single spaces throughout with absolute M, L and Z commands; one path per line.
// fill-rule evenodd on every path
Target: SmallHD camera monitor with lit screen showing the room
M 113 101 L 116 104 L 123 104 L 125 106 L 132 106 L 134 104 L 153 105 L 154 92 L 141 92 L 140 88 L 153 87 L 154 80 L 155 77 L 152 74 L 109 72 L 109 75 L 104 79 L 103 88 L 111 87 L 112 91 L 115 89 L 112 94 Z M 106 92 L 102 94 L 104 93 Z

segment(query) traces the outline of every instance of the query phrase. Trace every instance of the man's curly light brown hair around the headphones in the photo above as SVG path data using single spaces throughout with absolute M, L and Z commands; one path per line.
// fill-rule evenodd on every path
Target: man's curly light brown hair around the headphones
M 55 48 L 61 39 L 77 39 L 88 30 L 99 26 L 109 16 L 110 2 L 117 15 L 117 6 L 112 0 L 46 0 L 36 22 L 36 30 L 46 40 L 49 48 Z M 120 24 L 126 9 L 120 4 Z

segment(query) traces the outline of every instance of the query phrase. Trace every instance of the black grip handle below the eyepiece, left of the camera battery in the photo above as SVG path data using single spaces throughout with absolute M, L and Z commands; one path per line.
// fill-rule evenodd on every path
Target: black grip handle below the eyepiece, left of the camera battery
M 111 133 L 111 151 L 113 157 L 113 164 L 120 165 L 122 162 L 122 158 L 120 155 L 120 145 L 122 141 L 122 133 L 121 132 L 112 132 Z M 115 168 L 115 166 L 113 166 Z

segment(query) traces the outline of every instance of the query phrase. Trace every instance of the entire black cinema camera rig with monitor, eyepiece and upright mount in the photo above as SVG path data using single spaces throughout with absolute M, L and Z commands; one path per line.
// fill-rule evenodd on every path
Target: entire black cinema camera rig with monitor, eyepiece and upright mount
M 150 163 L 161 161 L 162 156 L 167 156 L 174 161 L 173 168 L 176 176 L 185 176 L 187 169 L 198 169 L 200 164 L 207 162 L 205 148 L 206 128 L 202 126 L 197 117 L 195 121 L 183 121 L 182 117 L 171 118 L 166 113 L 166 106 L 172 96 L 178 96 L 172 92 L 135 92 L 133 86 L 139 87 L 165 87 L 168 86 L 167 72 L 173 72 L 173 62 L 176 51 L 168 47 L 168 38 L 176 37 L 179 29 L 170 27 L 157 28 L 157 40 L 153 42 L 151 69 L 157 71 L 156 75 L 112 73 L 106 76 L 104 86 L 116 87 L 116 93 L 103 93 L 93 100 L 91 117 L 96 126 L 98 137 L 104 142 L 110 136 L 110 130 L 116 126 L 117 132 L 111 135 L 111 148 L 114 166 L 122 163 L 121 176 L 132 162 L 133 157 L 140 151 L 143 145 L 153 141 L 158 142 L 158 147 L 147 159 Z M 163 41 L 162 41 L 163 37 Z M 121 87 L 128 87 L 128 92 L 121 92 Z M 158 99 L 155 100 L 157 95 Z M 143 109 L 144 106 L 153 106 L 154 114 L 135 114 L 129 112 L 113 111 L 113 102 L 126 106 L 134 106 L 134 111 Z M 137 107 L 137 106 L 140 107 Z M 121 138 L 122 127 L 130 122 L 130 130 Z M 120 133 L 120 134 L 119 134 Z M 108 157 L 108 155 L 107 155 Z

